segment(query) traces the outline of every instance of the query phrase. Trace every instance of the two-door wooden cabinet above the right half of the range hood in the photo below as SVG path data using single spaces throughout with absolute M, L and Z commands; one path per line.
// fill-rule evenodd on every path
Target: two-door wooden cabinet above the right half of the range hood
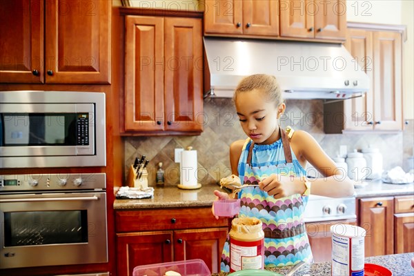
M 279 0 L 280 36 L 345 40 L 344 0 Z

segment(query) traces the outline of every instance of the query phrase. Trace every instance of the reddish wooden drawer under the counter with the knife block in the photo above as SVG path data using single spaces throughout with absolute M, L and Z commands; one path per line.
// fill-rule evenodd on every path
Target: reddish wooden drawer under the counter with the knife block
M 168 208 L 115 213 L 116 232 L 213 228 L 228 226 L 228 219 L 215 219 L 211 208 Z

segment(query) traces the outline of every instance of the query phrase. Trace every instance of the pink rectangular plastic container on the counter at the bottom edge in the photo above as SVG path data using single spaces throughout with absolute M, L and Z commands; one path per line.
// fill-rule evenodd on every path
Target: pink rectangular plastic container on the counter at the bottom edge
M 188 259 L 186 261 L 137 266 L 132 276 L 164 276 L 168 271 L 175 271 L 182 276 L 210 276 L 206 263 L 202 259 Z M 168 274 L 167 274 L 168 275 Z

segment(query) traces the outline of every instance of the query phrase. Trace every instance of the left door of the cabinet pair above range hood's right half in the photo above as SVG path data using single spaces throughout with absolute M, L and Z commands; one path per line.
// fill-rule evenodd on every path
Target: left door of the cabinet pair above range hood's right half
M 281 37 L 314 37 L 317 6 L 313 0 L 279 0 L 279 10 Z

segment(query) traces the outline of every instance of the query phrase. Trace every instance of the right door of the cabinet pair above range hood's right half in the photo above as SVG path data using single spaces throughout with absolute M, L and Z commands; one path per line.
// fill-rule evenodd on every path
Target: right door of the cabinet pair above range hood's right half
M 315 39 L 345 40 L 346 3 L 344 0 L 315 0 Z M 312 10 L 308 10 L 312 13 Z

